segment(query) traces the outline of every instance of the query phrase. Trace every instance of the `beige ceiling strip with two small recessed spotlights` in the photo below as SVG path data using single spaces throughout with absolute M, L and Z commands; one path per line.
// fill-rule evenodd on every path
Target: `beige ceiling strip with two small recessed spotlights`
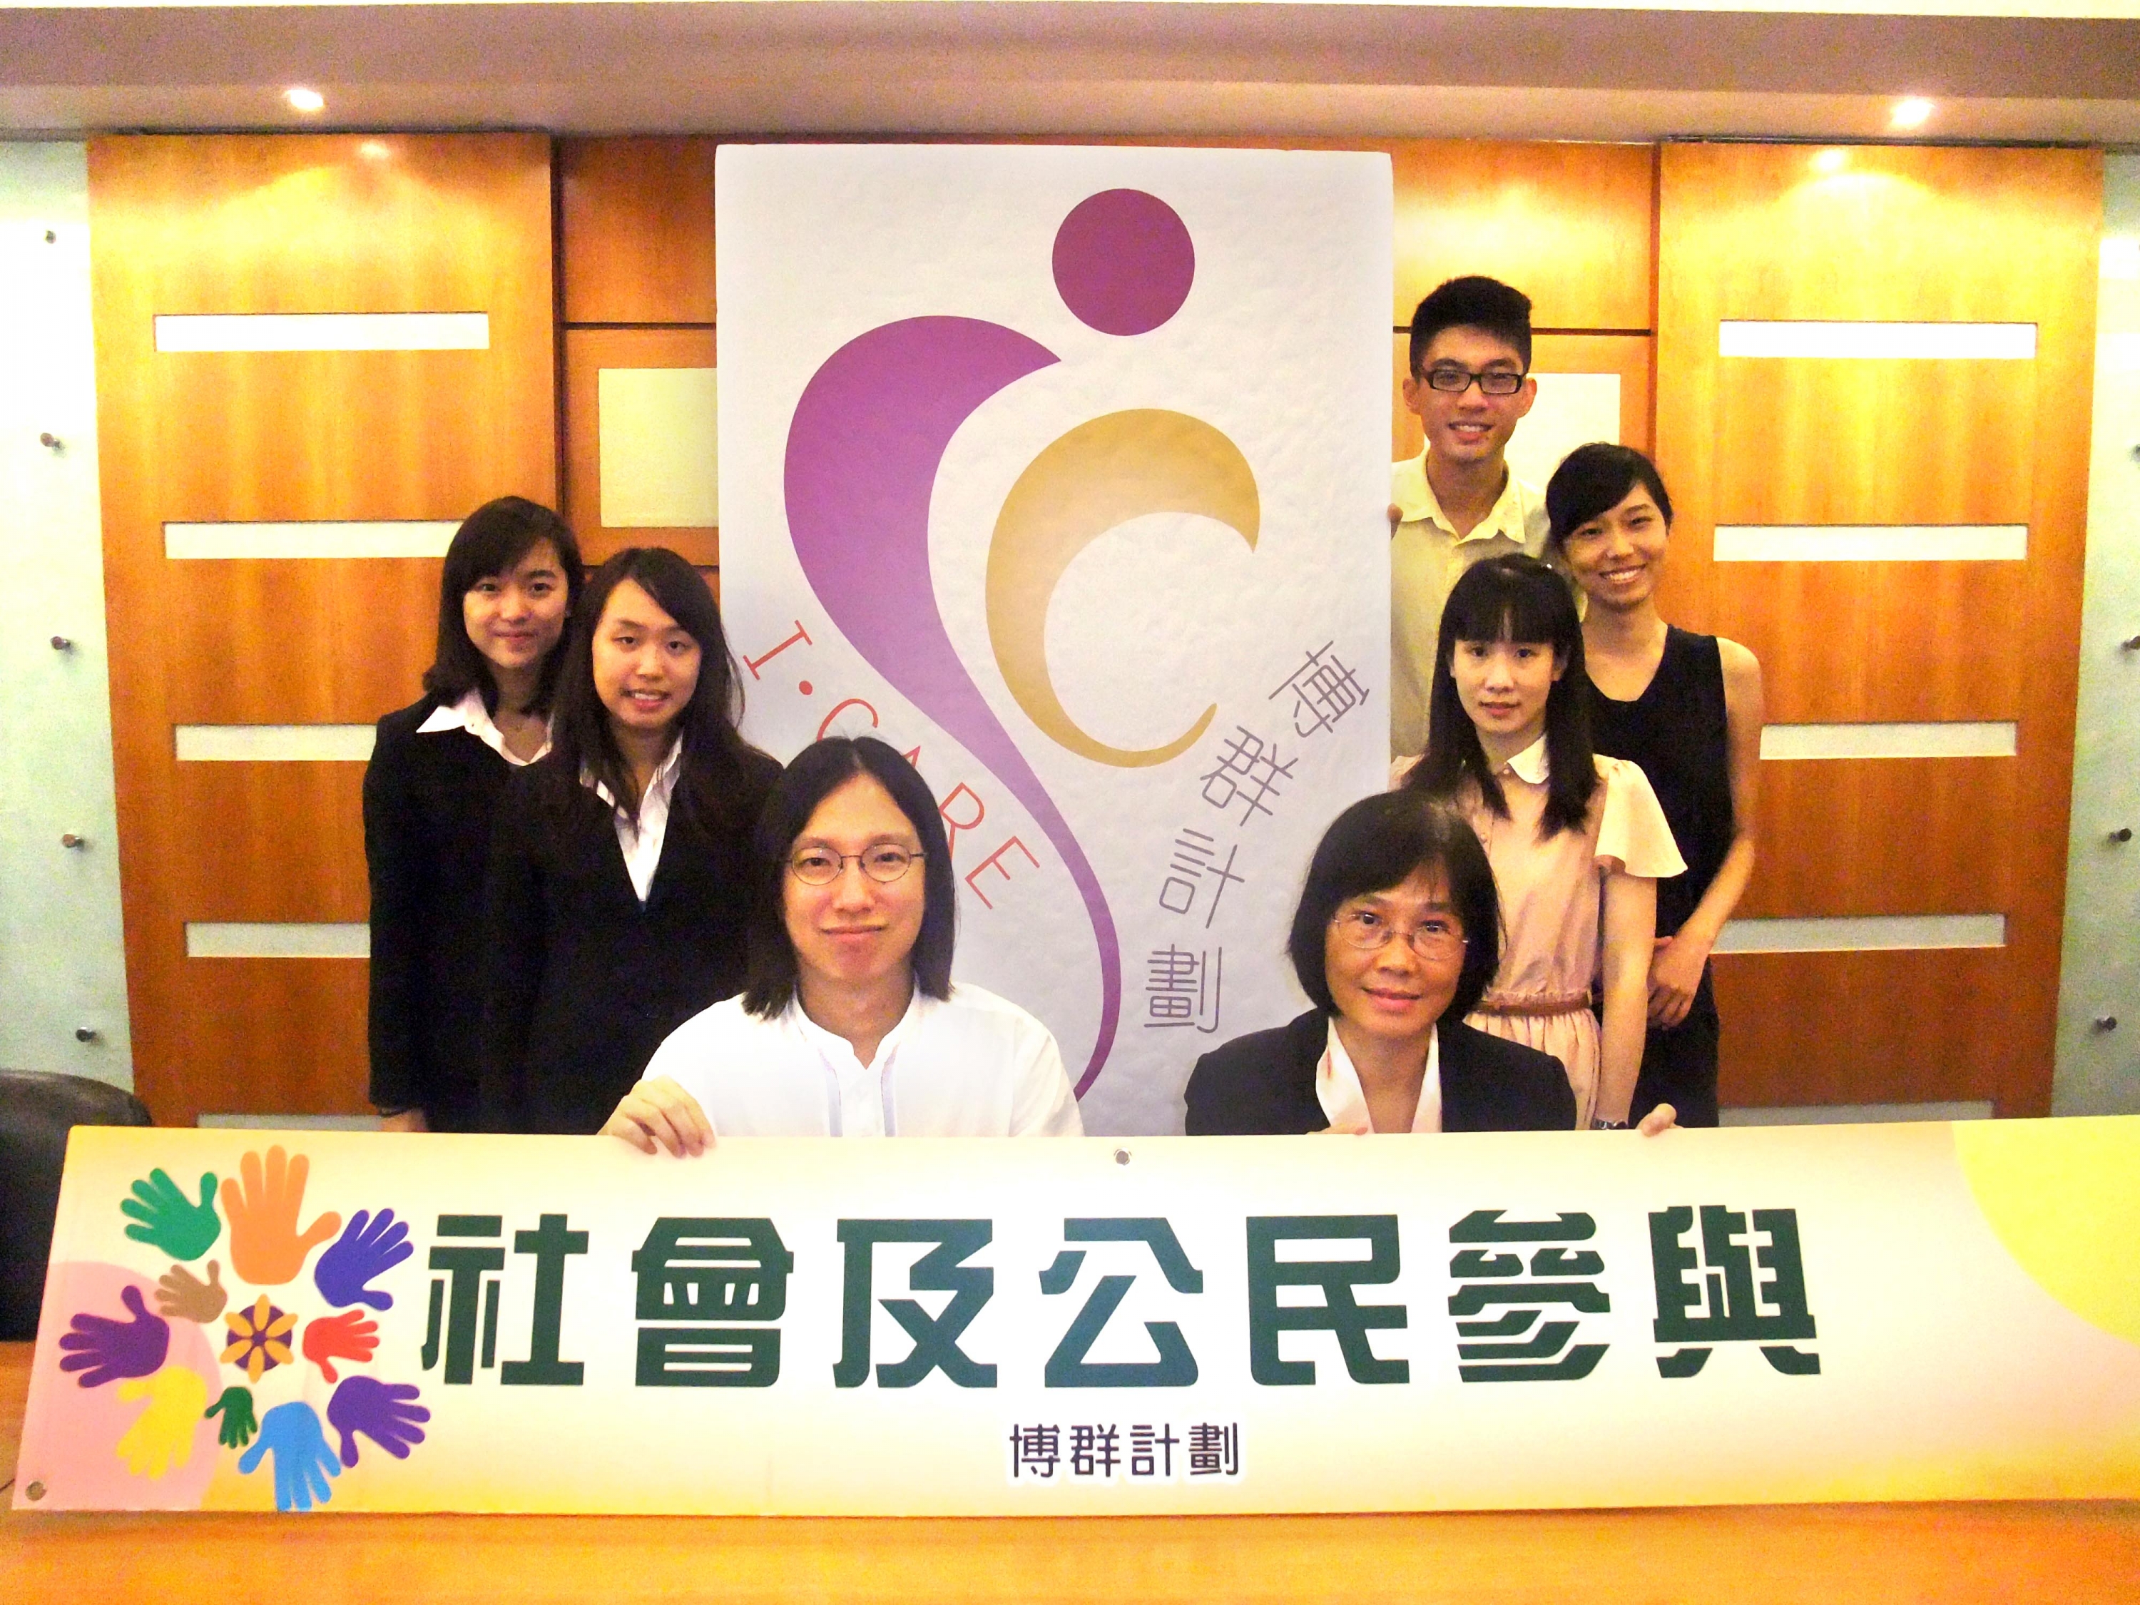
M 291 111 L 280 92 L 293 83 L 317 88 L 325 111 Z M 1716 11 L 1288 0 L 0 6 L 9 135 L 514 126 L 1877 139 L 1892 137 L 1905 94 L 1935 101 L 1917 137 L 2140 146 L 2140 17 L 1838 15 L 1729 0 Z

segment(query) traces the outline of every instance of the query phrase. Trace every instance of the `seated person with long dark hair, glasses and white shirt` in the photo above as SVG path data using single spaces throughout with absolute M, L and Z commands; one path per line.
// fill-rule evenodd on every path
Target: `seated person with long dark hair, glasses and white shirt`
M 1049 1029 L 952 984 L 935 798 L 882 740 L 807 747 L 751 843 L 749 982 L 685 1021 L 601 1128 L 646 1153 L 721 1136 L 1079 1136 Z

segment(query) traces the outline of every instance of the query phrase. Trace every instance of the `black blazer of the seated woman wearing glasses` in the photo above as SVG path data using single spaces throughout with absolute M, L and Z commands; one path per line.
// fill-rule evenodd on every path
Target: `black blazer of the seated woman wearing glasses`
M 1462 1021 L 1436 1027 L 1444 1132 L 1566 1132 L 1575 1094 L 1560 1059 L 1489 1036 Z M 1329 1126 L 1316 1102 L 1316 1064 L 1329 1014 L 1308 1010 L 1290 1025 L 1237 1036 L 1190 1072 L 1190 1136 L 1275 1136 Z

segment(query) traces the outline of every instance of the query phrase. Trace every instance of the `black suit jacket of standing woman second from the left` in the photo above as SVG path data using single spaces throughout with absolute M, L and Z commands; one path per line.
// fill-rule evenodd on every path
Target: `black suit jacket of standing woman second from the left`
M 610 805 L 544 792 L 559 758 L 511 775 L 490 843 L 484 987 L 484 1126 L 595 1132 L 661 1038 L 743 991 L 749 837 L 779 764 L 747 758 L 730 828 L 708 832 L 683 800 L 642 905 Z

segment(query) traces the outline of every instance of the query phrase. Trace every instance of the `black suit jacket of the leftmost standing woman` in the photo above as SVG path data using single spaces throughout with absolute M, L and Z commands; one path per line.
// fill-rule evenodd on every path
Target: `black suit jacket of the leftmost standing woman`
M 511 764 L 467 730 L 419 736 L 437 708 L 426 696 L 381 719 L 364 770 L 372 1102 L 422 1109 L 434 1132 L 473 1132 L 484 873 Z

